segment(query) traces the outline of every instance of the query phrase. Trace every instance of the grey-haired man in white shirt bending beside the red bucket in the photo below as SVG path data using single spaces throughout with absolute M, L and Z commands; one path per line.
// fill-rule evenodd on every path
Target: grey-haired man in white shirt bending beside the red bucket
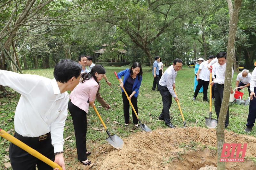
M 252 74 L 249 72 L 249 70 L 244 69 L 241 73 L 239 73 L 236 77 L 236 87 L 239 87 L 239 88 L 237 88 L 236 91 L 239 92 L 241 89 L 244 89 L 245 87 L 247 87 L 250 95 L 251 94 L 251 90 L 250 90 L 251 78 L 252 78 Z

